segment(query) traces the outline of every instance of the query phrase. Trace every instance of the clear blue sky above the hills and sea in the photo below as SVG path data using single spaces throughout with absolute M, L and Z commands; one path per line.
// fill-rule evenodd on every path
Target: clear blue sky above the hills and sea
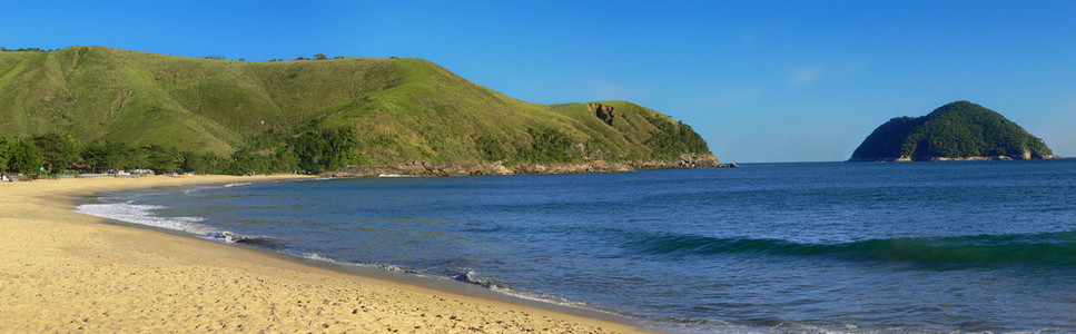
M 954 100 L 1076 156 L 1076 1 L 49 1 L 0 46 L 424 58 L 541 104 L 630 100 L 722 161 L 847 159 Z

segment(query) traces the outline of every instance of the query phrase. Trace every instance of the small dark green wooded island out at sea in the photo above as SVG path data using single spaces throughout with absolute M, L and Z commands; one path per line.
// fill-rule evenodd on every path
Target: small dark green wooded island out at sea
M 1036 138 L 998 112 L 956 101 L 921 117 L 898 117 L 875 129 L 851 161 L 1057 158 Z

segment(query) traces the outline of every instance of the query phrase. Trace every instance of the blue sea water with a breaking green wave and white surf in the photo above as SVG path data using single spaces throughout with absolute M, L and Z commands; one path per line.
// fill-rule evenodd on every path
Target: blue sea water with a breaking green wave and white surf
M 327 179 L 101 200 L 80 210 L 661 331 L 1076 332 L 1074 159 Z

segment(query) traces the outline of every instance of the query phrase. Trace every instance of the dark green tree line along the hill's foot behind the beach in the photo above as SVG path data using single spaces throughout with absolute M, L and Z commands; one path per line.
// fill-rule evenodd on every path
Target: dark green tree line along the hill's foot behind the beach
M 131 169 L 149 169 L 157 174 L 319 174 L 347 165 L 368 164 L 356 147 L 356 135 L 351 128 L 300 134 L 269 131 L 247 140 L 229 156 L 107 140 L 82 144 L 69 135 L 48 132 L 0 136 L 0 171 L 38 176 L 111 174 Z

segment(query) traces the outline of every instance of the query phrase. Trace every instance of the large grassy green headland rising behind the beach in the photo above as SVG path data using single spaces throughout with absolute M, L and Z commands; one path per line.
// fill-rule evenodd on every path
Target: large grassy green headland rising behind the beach
M 188 156 L 250 165 L 233 173 L 414 161 L 717 165 L 691 127 L 657 111 L 625 101 L 524 102 L 421 59 L 0 52 L 0 136 L 47 134 L 82 147 L 164 148 L 180 160 L 176 169 Z M 108 165 L 146 164 L 117 159 Z M 68 160 L 51 165 L 101 164 Z

